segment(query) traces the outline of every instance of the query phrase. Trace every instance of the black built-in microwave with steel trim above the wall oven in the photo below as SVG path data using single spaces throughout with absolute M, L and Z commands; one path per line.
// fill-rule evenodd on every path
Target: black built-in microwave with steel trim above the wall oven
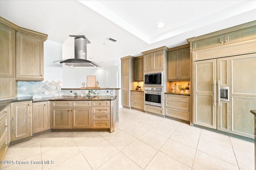
M 163 72 L 144 74 L 144 86 L 162 86 Z

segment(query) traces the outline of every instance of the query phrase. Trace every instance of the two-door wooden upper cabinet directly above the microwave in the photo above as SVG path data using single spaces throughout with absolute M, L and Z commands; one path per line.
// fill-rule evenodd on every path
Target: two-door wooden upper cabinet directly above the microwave
M 160 47 L 142 52 L 144 55 L 144 71 L 164 70 L 167 47 Z M 155 52 L 154 52 L 155 51 Z

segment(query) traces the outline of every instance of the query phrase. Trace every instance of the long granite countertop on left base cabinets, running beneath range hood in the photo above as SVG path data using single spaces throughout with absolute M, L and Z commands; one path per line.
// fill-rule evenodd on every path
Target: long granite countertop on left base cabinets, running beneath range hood
M 29 97 L 19 97 L 12 100 L 4 100 L 0 101 L 0 111 L 4 109 L 8 104 L 12 102 L 25 102 L 25 101 L 34 102 L 45 102 L 50 100 L 116 100 L 116 96 L 54 96 L 47 98 L 33 98 L 33 96 Z

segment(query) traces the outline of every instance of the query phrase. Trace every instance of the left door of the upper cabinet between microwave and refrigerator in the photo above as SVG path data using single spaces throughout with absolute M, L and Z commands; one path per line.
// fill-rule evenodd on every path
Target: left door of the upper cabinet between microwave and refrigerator
M 178 60 L 179 60 L 179 51 L 172 51 L 168 53 L 168 80 L 177 80 L 178 79 Z

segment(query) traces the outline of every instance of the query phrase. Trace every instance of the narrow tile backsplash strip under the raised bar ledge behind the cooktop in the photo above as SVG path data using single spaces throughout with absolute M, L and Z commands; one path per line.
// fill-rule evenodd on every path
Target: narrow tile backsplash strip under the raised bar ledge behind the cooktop
M 116 96 L 116 90 L 110 94 L 109 89 L 64 89 L 61 92 L 62 96 Z

